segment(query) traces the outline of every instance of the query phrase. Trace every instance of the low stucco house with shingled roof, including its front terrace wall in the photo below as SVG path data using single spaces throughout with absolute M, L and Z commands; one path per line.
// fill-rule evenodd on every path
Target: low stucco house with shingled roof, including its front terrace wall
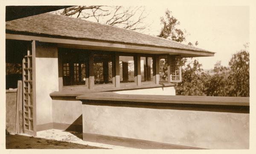
M 202 101 L 173 96 L 174 83 L 182 80 L 180 59 L 213 55 L 168 39 L 50 13 L 6 22 L 6 64 L 22 66 L 22 74 L 9 82 L 23 81 L 23 131 L 33 136 L 55 128 L 82 131 L 83 139 L 93 142 L 102 142 L 101 137 L 119 137 L 201 148 L 233 148 L 233 142 L 223 143 L 235 136 L 241 139 L 241 148 L 246 148 L 247 99 L 205 101 L 205 97 Z M 163 72 L 161 67 L 167 70 Z M 216 109 L 223 105 L 220 101 L 225 102 L 223 114 Z M 230 134 L 212 146 L 197 141 L 200 137 L 182 142 L 175 131 L 186 128 L 184 123 L 166 135 L 178 122 L 170 117 L 177 114 L 187 122 L 186 117 L 194 115 L 194 108 L 202 104 L 209 114 L 198 112 L 196 119 L 207 115 L 236 119 L 239 114 L 241 118 L 228 122 L 228 127 L 244 125 L 245 129 L 238 127 L 238 131 L 245 135 Z M 214 139 L 215 133 L 211 136 Z

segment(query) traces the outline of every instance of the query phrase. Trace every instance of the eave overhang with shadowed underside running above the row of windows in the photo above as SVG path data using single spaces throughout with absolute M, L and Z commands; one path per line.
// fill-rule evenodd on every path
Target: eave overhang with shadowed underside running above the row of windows
M 76 39 L 76 38 L 53 38 L 45 36 L 20 35 L 6 33 L 6 39 L 23 40 L 23 41 L 40 41 L 57 44 L 58 47 L 78 48 L 78 49 L 94 49 L 117 52 L 134 52 L 148 54 L 169 54 L 181 55 L 181 57 L 204 57 L 214 56 L 214 52 L 192 51 L 185 49 L 175 49 L 160 46 L 148 46 L 140 44 L 125 44 L 119 42 Z

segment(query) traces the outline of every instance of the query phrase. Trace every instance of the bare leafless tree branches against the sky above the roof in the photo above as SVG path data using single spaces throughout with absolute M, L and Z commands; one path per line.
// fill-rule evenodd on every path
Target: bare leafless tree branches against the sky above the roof
M 58 12 L 55 12 L 58 14 Z M 124 29 L 142 31 L 147 29 L 144 20 L 148 16 L 144 6 L 73 6 L 64 9 L 60 15 L 76 15 L 80 19 L 89 19 L 98 23 L 117 26 Z

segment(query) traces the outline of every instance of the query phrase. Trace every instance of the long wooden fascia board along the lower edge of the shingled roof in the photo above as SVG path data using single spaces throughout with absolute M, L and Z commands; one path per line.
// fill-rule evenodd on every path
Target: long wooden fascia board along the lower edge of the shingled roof
M 129 50 L 137 50 L 140 51 L 152 51 L 152 52 L 165 52 L 169 54 L 182 54 L 188 55 L 187 57 L 201 57 L 201 56 L 214 56 L 214 53 L 211 52 L 197 52 L 197 51 L 188 51 L 182 49 L 170 49 L 164 47 L 152 47 L 152 46 L 139 46 L 139 45 L 131 45 L 131 44 L 117 44 L 117 43 L 108 43 L 108 42 L 97 42 L 97 41 L 85 41 L 85 40 L 72 40 L 65 38 L 49 38 L 49 37 L 41 37 L 41 36 L 31 36 L 31 35 L 19 35 L 19 34 L 8 34 L 6 33 L 6 39 L 12 40 L 23 40 L 23 41 L 40 41 L 47 43 L 56 43 L 56 44 L 73 44 L 73 45 L 82 45 L 90 48 L 109 48 L 109 50 L 113 51 L 126 51 Z M 156 53 L 157 54 L 157 53 Z M 186 56 L 183 56 L 186 57 Z

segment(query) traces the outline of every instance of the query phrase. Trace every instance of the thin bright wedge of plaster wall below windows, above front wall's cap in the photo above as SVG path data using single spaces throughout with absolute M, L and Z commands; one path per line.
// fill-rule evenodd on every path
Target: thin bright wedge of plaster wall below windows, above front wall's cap
M 175 95 L 174 87 L 157 87 L 137 90 L 122 90 L 115 91 L 118 94 L 131 94 L 131 95 Z

